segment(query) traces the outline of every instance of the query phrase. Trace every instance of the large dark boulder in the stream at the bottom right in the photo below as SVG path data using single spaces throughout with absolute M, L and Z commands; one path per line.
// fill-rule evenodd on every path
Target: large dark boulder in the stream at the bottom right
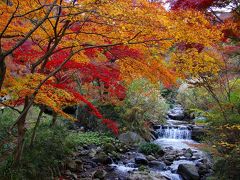
M 177 173 L 180 174 L 184 180 L 199 180 L 200 176 L 198 170 L 193 164 L 180 164 Z

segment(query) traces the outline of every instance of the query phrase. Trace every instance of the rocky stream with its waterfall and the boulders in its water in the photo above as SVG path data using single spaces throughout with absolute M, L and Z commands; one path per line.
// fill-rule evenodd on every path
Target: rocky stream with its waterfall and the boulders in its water
M 129 174 L 133 178 L 126 179 L 205 179 L 211 171 L 210 159 L 194 146 L 199 143 L 191 139 L 192 124 L 184 121 L 182 106 L 175 105 L 169 110 L 166 125 L 156 126 L 155 134 L 157 139 L 153 143 L 164 150 L 164 156 L 155 160 L 146 157 L 149 171 L 143 176 L 135 161 L 139 157 L 144 159 L 144 155 L 128 152 L 126 157 L 112 164 L 114 171 L 121 175 L 120 179 L 129 177 Z

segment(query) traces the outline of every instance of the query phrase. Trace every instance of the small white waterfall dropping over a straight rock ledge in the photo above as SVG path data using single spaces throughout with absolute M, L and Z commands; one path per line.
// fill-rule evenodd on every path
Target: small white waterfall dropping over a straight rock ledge
M 157 134 L 165 139 L 191 139 L 191 129 L 187 126 L 161 126 Z

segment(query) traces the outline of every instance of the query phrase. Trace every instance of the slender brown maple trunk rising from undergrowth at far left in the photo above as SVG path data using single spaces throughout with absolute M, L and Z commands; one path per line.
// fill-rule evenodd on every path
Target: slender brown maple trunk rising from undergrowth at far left
M 24 109 L 27 108 L 29 103 L 28 96 L 25 97 Z M 24 112 L 23 109 L 23 112 Z M 21 161 L 22 152 L 24 148 L 24 136 L 25 136 L 25 122 L 27 117 L 28 111 L 24 112 L 23 116 L 17 122 L 17 130 L 18 130 L 18 137 L 17 137 L 17 147 L 14 155 L 14 164 L 18 165 Z

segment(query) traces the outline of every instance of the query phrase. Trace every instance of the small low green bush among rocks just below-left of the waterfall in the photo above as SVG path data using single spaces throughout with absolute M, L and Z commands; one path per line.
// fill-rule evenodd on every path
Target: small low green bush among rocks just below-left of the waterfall
M 154 143 L 144 143 L 139 146 L 139 152 L 150 155 L 150 154 L 161 154 L 162 149 L 159 145 Z

